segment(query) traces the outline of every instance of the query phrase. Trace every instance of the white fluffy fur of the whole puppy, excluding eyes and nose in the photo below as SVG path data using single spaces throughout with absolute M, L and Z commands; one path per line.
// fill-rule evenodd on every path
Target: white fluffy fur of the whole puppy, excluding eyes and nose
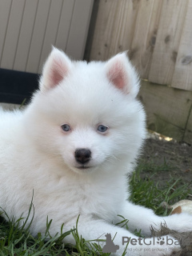
M 70 230 L 80 214 L 78 232 L 86 240 L 103 233 L 117 235 L 114 243 L 125 246 L 130 231 L 114 226 L 118 214 L 129 219 L 130 230 L 150 235 L 150 225 L 166 221 L 170 229 L 192 229 L 192 216 L 158 217 L 152 210 L 127 201 L 126 174 L 145 138 L 145 114 L 135 99 L 138 77 L 126 54 L 108 62 L 71 62 L 53 49 L 38 90 L 24 111 L 0 110 L 0 206 L 11 217 L 25 217 L 34 191 L 31 233 L 45 232 L 46 217 L 53 219 L 50 234 Z M 69 124 L 71 130 L 62 130 Z M 102 124 L 109 129 L 99 132 Z M 74 151 L 91 150 L 87 169 L 75 161 Z M 103 238 L 105 236 L 103 235 Z M 64 242 L 74 242 L 72 235 Z M 162 255 L 145 252 L 127 255 Z M 131 248 L 131 245 L 129 245 Z M 149 248 L 149 247 L 147 247 Z M 158 248 L 158 245 L 155 247 Z M 159 248 L 166 248 L 159 246 Z M 177 246 L 170 246 L 167 255 Z

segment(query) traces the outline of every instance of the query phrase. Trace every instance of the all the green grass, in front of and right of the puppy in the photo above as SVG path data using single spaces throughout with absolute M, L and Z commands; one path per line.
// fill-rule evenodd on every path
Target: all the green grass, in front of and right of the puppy
M 167 209 L 159 206 L 161 202 L 172 204 L 181 199 L 188 198 L 189 194 L 192 194 L 189 185 L 183 183 L 181 179 L 174 180 L 174 178 L 170 178 L 163 188 L 153 181 L 154 175 L 158 175 L 159 170 L 163 170 L 168 174 L 170 168 L 172 166 L 168 166 L 166 162 L 162 166 L 155 166 L 153 162 L 150 164 L 140 163 L 130 180 L 132 190 L 130 200 L 136 204 L 153 209 L 156 214 L 168 214 Z M 29 215 L 31 211 L 33 211 L 32 203 Z M 91 245 L 92 249 L 90 249 L 88 242 L 79 236 L 78 220 L 74 230 L 62 234 L 61 227 L 60 234 L 51 237 L 49 234 L 51 221 L 47 219 L 46 234 L 38 234 L 35 238 L 30 234 L 29 226 L 26 226 L 26 222 L 20 228 L 18 227 L 19 222 L 23 222 L 23 219 L 15 220 L 13 218 L 6 222 L 3 218 L 0 218 L 0 256 L 96 256 L 98 255 L 97 252 L 102 253 L 97 243 Z M 122 217 L 121 226 L 127 225 L 129 226 L 129 222 Z M 62 239 L 70 234 L 70 232 L 74 236 L 76 246 L 65 246 L 62 243 Z M 136 230 L 136 234 L 139 235 L 139 231 Z M 102 255 L 107 256 L 110 254 Z

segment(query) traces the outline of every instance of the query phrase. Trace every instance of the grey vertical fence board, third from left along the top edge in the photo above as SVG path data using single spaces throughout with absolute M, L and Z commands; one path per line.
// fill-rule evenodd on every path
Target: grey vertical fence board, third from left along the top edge
M 26 0 L 21 32 L 18 39 L 18 49 L 14 60 L 14 70 L 26 70 L 26 62 L 30 51 L 30 42 L 34 30 L 34 19 L 37 8 L 38 0 Z

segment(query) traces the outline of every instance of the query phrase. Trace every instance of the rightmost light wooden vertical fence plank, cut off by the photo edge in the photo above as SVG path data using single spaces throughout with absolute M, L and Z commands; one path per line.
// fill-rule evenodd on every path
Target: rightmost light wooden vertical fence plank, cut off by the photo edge
M 192 1 L 189 1 L 171 86 L 192 90 Z

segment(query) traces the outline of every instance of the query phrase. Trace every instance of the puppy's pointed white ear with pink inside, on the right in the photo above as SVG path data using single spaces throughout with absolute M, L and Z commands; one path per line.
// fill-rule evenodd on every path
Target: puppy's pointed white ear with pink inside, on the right
M 125 94 L 138 94 L 138 74 L 131 66 L 126 52 L 117 54 L 106 62 L 106 75 L 110 82 Z

